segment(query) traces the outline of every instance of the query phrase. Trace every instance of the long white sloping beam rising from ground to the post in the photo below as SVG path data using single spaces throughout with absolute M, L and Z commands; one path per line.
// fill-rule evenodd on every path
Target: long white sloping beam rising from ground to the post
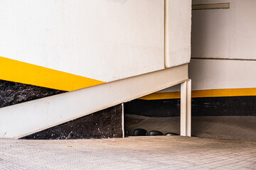
M 0 108 L 0 137 L 20 138 L 181 84 L 188 64 Z

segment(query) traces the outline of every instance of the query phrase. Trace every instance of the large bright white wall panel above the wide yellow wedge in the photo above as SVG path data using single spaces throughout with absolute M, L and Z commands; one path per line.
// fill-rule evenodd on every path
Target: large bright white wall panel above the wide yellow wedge
M 0 56 L 100 81 L 164 69 L 164 0 L 0 0 Z

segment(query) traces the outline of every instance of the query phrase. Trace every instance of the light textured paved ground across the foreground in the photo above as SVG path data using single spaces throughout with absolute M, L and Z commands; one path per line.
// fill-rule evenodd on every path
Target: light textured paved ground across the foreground
M 0 139 L 0 169 L 256 169 L 256 143 L 180 136 Z

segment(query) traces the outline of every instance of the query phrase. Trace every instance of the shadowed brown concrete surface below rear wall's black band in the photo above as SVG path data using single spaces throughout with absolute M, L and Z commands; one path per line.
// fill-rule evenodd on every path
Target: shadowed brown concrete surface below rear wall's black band
M 124 118 L 127 135 L 133 135 L 136 128 L 143 128 L 148 132 L 180 132 L 179 117 L 125 115 Z M 192 136 L 256 142 L 256 116 L 193 116 Z

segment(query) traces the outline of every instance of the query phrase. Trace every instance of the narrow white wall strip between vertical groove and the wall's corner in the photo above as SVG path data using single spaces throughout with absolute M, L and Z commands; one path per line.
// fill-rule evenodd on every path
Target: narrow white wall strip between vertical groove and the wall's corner
M 166 1 L 165 66 L 191 60 L 191 0 Z

